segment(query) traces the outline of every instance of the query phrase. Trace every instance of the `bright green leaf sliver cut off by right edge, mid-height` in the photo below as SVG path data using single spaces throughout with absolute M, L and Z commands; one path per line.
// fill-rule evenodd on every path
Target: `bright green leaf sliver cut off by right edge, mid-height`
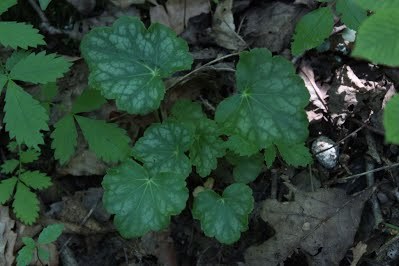
M 386 141 L 399 144 L 399 95 L 393 96 L 385 105 L 383 121 Z

